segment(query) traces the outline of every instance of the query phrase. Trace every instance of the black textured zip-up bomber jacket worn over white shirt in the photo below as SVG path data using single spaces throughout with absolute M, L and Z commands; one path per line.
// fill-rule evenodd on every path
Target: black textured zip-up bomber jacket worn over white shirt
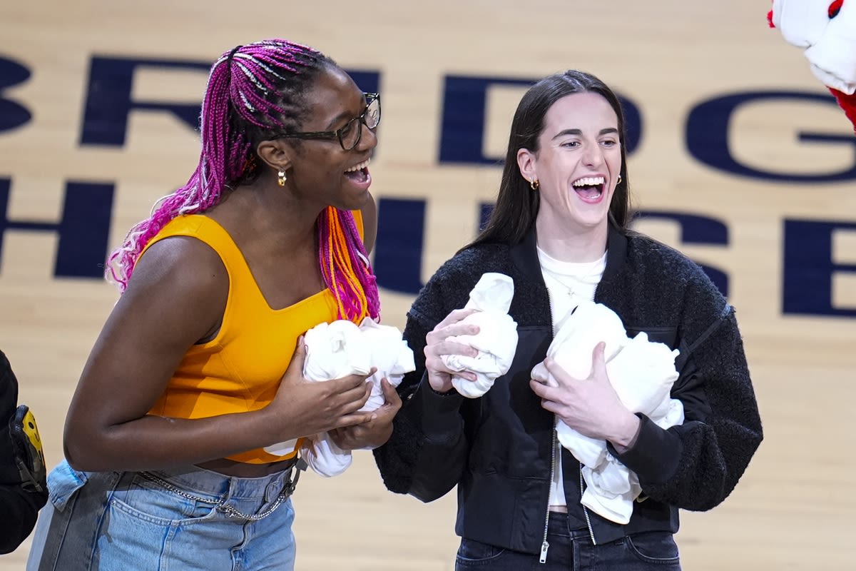
M 550 300 L 534 229 L 514 246 L 468 247 L 422 288 L 407 314 L 404 337 L 416 370 L 398 390 L 404 405 L 392 437 L 375 450 L 390 491 L 423 502 L 457 485 L 455 532 L 496 546 L 538 553 L 550 495 L 554 416 L 529 381 L 552 341 Z M 514 280 L 509 314 L 518 346 L 508 373 L 476 399 L 438 394 L 425 376 L 425 335 L 463 307 L 485 272 Z M 579 462 L 562 449 L 568 515 L 597 544 L 637 532 L 678 530 L 678 509 L 706 510 L 734 489 L 762 440 L 761 421 L 734 309 L 701 268 L 645 235 L 609 230 L 607 265 L 595 301 L 616 312 L 628 336 L 645 331 L 677 348 L 680 377 L 672 397 L 682 425 L 663 430 L 644 415 L 633 448 L 614 455 L 639 476 L 644 501 L 622 526 L 580 504 Z

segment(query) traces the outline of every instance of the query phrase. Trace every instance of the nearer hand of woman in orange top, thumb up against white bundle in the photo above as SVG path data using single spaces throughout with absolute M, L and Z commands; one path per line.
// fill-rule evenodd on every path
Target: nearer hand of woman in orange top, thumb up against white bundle
M 373 369 L 367 375 L 348 375 L 319 383 L 303 376 L 305 361 L 306 345 L 300 336 L 276 396 L 265 407 L 271 413 L 274 438 L 271 444 L 360 425 L 374 418 L 373 412 L 359 412 L 372 394 L 372 382 L 366 379 L 372 376 Z

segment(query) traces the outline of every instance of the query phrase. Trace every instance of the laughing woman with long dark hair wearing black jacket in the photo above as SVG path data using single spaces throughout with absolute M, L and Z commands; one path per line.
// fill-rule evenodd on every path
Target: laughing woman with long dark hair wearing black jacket
M 375 456 L 391 491 L 431 502 L 457 485 L 457 569 L 679 569 L 679 509 L 721 503 L 761 442 L 734 308 L 698 265 L 627 228 L 625 145 L 621 104 L 601 80 L 570 70 L 538 81 L 514 115 L 489 223 L 407 314 L 404 336 L 421 360 Z M 508 373 L 469 400 L 442 357 L 476 355 L 449 337 L 478 331 L 461 323 L 470 310 L 460 308 L 484 272 L 513 278 L 519 342 Z M 603 343 L 588 378 L 545 360 L 554 324 L 592 299 L 628 335 L 645 331 L 680 350 L 671 396 L 683 404 L 682 425 L 663 430 L 621 403 Z M 532 378 L 542 361 L 556 388 Z M 581 505 L 582 467 L 558 444 L 556 418 L 606 441 L 638 475 L 644 501 L 626 525 Z

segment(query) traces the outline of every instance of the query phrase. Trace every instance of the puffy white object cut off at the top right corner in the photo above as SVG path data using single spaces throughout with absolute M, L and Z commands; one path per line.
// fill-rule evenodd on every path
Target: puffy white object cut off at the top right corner
M 774 0 L 773 25 L 789 44 L 804 49 L 811 73 L 823 85 L 856 92 L 856 3 L 848 0 L 829 18 L 829 0 Z

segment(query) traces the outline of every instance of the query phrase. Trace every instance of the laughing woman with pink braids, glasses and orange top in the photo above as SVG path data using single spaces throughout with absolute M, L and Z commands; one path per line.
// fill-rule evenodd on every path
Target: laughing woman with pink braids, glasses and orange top
M 109 259 L 122 289 L 68 410 L 29 569 L 291 569 L 297 452 L 377 446 L 401 406 L 310 383 L 302 334 L 378 317 L 368 164 L 380 99 L 283 39 L 223 53 L 187 184 Z M 300 446 L 300 441 L 296 444 Z

